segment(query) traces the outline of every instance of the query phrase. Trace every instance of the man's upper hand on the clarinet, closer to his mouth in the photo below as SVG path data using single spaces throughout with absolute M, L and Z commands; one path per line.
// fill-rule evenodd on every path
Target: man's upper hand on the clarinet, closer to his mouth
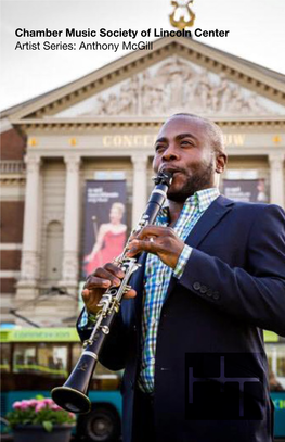
M 176 268 L 184 242 L 171 227 L 146 226 L 129 242 L 127 256 L 135 256 L 140 252 L 157 255 L 168 267 Z

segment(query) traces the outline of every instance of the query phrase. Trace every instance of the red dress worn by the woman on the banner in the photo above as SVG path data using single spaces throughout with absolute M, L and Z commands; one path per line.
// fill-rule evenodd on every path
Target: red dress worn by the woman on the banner
M 121 233 L 107 231 L 104 236 L 102 249 L 100 249 L 90 261 L 85 263 L 85 274 L 90 275 L 96 267 L 112 263 L 112 261 L 122 252 L 125 242 L 126 231 Z

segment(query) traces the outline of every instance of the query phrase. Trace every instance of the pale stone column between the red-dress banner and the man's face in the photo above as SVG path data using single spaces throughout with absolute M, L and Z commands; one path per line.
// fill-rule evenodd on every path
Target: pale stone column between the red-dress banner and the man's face
M 132 226 L 135 226 L 147 202 L 147 155 L 132 155 L 131 161 L 133 164 Z

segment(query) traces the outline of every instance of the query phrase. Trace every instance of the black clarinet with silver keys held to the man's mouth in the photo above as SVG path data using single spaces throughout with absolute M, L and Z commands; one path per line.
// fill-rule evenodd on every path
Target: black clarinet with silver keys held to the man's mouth
M 155 178 L 155 188 L 152 191 L 146 210 L 141 216 L 138 226 L 132 230 L 131 236 L 143 227 L 153 224 L 167 195 L 167 190 L 172 181 L 172 174 L 160 172 Z M 131 237 L 130 236 L 130 237 Z M 95 316 L 94 328 L 83 342 L 83 351 L 75 368 L 63 387 L 55 387 L 51 391 L 53 401 L 67 412 L 88 413 L 91 409 L 91 402 L 88 397 L 89 384 L 96 367 L 100 352 L 106 337 L 111 331 L 112 324 L 119 312 L 120 302 L 126 292 L 131 289 L 129 285 L 132 274 L 141 266 L 138 263 L 139 255 L 127 257 L 130 237 L 122 253 L 116 258 L 116 264 L 125 273 L 119 287 L 111 287 L 102 295 Z

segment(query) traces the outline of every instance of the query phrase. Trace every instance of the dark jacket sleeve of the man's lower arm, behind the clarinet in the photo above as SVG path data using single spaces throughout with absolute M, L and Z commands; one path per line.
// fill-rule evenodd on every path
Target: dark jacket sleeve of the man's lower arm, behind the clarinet
M 92 331 L 92 327 L 90 326 L 80 328 L 82 312 L 76 325 L 81 342 L 88 339 Z M 99 362 L 109 370 L 121 370 L 126 365 L 127 349 L 127 333 L 119 313 L 114 319 L 109 334 L 105 338 L 104 346 L 99 355 Z

